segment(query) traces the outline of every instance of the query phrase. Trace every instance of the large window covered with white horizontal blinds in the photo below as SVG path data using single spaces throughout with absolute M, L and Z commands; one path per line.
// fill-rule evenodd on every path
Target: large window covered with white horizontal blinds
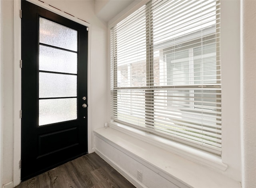
M 219 0 L 152 0 L 110 53 L 114 121 L 221 156 Z

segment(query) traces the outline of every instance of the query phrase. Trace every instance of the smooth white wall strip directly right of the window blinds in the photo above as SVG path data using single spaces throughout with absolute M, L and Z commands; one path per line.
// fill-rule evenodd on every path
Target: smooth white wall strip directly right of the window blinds
M 222 162 L 242 181 L 240 139 L 240 1 L 221 0 Z

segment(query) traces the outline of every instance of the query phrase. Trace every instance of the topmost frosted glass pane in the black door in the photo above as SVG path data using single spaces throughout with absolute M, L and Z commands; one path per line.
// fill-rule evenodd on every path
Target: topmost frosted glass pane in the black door
M 39 42 L 77 51 L 77 31 L 50 20 L 39 18 Z

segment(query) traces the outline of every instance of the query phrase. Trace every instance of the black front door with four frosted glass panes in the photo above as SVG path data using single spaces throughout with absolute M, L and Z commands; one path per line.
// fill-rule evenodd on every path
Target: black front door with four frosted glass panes
M 87 51 L 86 26 L 22 1 L 22 180 L 87 153 Z

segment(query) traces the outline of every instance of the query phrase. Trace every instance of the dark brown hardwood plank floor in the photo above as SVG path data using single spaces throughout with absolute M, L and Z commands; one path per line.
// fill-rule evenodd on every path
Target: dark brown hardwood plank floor
M 86 154 L 15 188 L 135 188 L 96 153 Z

